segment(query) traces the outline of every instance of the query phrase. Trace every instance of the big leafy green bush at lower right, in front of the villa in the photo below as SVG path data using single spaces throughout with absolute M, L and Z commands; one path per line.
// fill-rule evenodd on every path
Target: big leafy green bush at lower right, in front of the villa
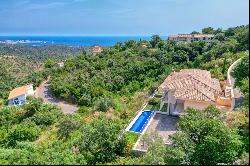
M 223 122 L 218 109 L 185 111 L 177 124 L 178 132 L 170 136 L 174 146 L 167 146 L 168 164 L 230 164 L 241 155 L 240 136 Z

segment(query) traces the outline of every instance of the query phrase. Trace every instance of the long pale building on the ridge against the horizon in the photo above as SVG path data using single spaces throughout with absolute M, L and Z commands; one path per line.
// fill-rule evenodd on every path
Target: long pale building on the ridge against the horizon
M 168 40 L 174 40 L 178 43 L 191 43 L 204 41 L 210 43 L 214 40 L 214 35 L 212 34 L 178 34 L 169 35 Z

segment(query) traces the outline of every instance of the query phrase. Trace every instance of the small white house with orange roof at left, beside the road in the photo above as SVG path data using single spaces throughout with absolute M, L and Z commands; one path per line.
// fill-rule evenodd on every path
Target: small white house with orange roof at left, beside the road
M 25 85 L 18 88 L 13 89 L 10 91 L 8 101 L 9 105 L 23 105 L 26 102 L 27 96 L 34 95 L 33 85 Z

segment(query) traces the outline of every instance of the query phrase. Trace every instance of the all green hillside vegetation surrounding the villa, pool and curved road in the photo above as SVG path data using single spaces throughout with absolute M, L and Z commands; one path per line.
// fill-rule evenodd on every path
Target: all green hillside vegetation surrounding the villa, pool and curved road
M 53 58 L 37 64 L 36 76 L 24 74 L 19 78 L 22 83 L 36 83 L 50 75 L 51 92 L 80 109 L 63 114 L 39 98 L 29 98 L 21 107 L 0 103 L 0 164 L 247 164 L 248 28 L 204 28 L 202 33 L 215 34 L 211 44 L 177 44 L 155 35 L 150 41 L 117 43 L 97 55 L 82 52 L 67 59 L 62 68 Z M 171 137 L 172 146 L 152 133 L 145 154 L 131 152 L 138 135 L 122 131 L 173 68 L 206 69 L 224 80 L 230 64 L 240 57 L 233 76 L 244 94 L 241 107 L 226 114 L 213 107 L 188 109 Z M 0 88 L 13 87 L 19 74 L 13 74 L 6 63 L 0 68 Z M 6 94 L 0 96 L 4 101 Z

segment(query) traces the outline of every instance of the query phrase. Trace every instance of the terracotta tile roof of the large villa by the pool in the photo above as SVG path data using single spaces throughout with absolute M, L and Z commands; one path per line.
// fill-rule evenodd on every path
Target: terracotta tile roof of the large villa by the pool
M 219 80 L 211 78 L 209 71 L 184 69 L 172 72 L 159 87 L 160 91 L 173 91 L 177 99 L 215 101 L 221 94 Z

